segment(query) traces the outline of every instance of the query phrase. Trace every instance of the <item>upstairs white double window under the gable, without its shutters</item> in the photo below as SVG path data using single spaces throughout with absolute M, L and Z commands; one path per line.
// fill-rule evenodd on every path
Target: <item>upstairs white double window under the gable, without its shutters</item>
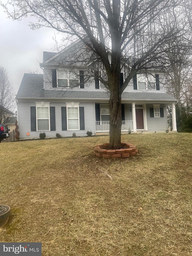
M 57 86 L 58 87 L 77 87 L 79 86 L 79 79 L 73 72 L 57 69 Z

